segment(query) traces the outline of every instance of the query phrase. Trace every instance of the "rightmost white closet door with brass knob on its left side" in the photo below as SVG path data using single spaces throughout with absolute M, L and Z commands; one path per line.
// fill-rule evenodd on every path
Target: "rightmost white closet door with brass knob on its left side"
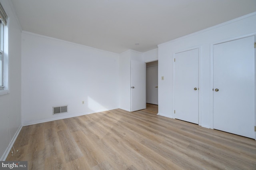
M 214 45 L 214 128 L 255 138 L 255 37 Z

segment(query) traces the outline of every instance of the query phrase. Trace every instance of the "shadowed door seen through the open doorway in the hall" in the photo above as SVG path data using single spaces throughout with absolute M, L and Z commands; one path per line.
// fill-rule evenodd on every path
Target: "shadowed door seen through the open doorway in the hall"
M 146 68 L 146 102 L 158 105 L 158 66 Z

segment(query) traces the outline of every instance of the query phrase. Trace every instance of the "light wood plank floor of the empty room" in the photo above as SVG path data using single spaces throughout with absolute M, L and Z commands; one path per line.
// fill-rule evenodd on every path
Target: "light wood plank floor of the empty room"
M 30 170 L 256 169 L 255 140 L 147 107 L 25 126 L 7 160 L 27 160 Z

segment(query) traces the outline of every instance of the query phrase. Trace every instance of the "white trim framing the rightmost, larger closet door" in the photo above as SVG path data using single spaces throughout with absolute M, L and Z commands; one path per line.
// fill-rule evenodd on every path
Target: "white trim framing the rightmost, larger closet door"
M 237 36 L 237 37 L 233 37 L 233 38 L 229 38 L 229 39 L 225 39 L 225 40 L 221 40 L 221 41 L 217 41 L 217 42 L 213 42 L 210 43 L 210 128 L 214 129 L 214 113 L 213 113 L 213 94 L 214 91 L 212 90 L 213 87 L 213 47 L 214 45 L 220 44 L 220 43 L 225 43 L 225 42 L 230 42 L 230 41 L 234 41 L 234 40 L 239 40 L 242 38 L 247 38 L 247 37 L 251 37 L 254 36 L 256 38 L 256 32 L 251 33 L 251 34 L 246 34 L 243 36 Z M 256 41 L 256 40 L 255 40 Z M 256 49 L 255 49 L 255 81 L 256 81 Z M 256 98 L 256 82 L 255 82 L 255 98 Z M 255 100 L 256 101 L 256 100 Z M 255 125 L 256 126 L 256 103 L 255 103 Z M 255 140 L 256 140 L 256 132 L 255 132 Z

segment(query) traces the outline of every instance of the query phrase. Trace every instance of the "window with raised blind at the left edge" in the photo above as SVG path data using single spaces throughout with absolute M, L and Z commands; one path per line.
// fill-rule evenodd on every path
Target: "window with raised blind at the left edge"
M 0 90 L 7 89 L 7 59 L 4 53 L 5 34 L 4 29 L 7 24 L 7 15 L 0 3 Z M 5 87 L 6 86 L 6 87 Z

